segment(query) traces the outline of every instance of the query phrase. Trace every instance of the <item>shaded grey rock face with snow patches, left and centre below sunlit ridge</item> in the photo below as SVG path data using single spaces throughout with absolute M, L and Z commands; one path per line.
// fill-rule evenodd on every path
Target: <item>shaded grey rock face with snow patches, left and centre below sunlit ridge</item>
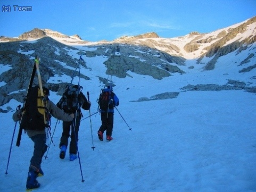
M 0 106 L 8 103 L 12 98 L 23 102 L 23 96 L 26 95 L 36 55 L 40 56 L 41 59 L 40 72 L 43 84 L 50 90 L 57 91 L 58 94 L 64 92 L 67 83 L 62 81 L 58 81 L 56 84 L 47 83 L 49 78 L 65 74 L 70 76 L 71 79 L 73 76 L 78 76 L 79 74 L 78 70 L 74 73 L 79 60 L 73 59 L 68 54 L 69 51 L 75 51 L 78 55 L 86 55 L 87 57 L 106 56 L 108 58 L 104 62 L 106 74 L 112 74 L 119 78 L 129 76 L 128 71 L 137 74 L 147 74 L 155 79 L 168 77 L 171 73 L 175 72 L 185 73 L 176 65 L 171 64 L 184 65 L 184 59 L 170 56 L 148 47 L 106 44 L 99 45 L 95 51 L 84 52 L 45 36 L 45 32 L 40 29 L 26 32 L 19 38 L 39 39 L 33 43 L 24 40 L 0 43 L 0 63 L 9 65 L 11 68 L 0 74 L 0 80 L 6 82 L 6 85 L 0 87 Z M 63 66 L 63 63 L 68 67 Z M 88 69 L 85 62 L 81 62 L 81 65 Z M 80 78 L 89 80 L 84 74 L 80 74 Z M 35 78 L 36 84 L 38 84 L 37 77 Z

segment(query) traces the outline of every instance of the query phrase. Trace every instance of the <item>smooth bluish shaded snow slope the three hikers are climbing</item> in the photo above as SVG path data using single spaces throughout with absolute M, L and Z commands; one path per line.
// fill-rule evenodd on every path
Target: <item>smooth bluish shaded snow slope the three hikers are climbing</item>
M 81 85 L 84 93 L 90 93 L 93 114 L 103 88 L 95 72 L 103 73 L 104 77 L 105 69 L 100 65 L 101 57 L 93 61 L 84 59 L 92 71 L 82 68 L 81 72 L 92 80 L 81 79 Z M 70 162 L 68 157 L 59 158 L 62 124 L 52 119 L 54 145 L 49 148 L 48 158 L 43 160 L 45 176 L 38 178 L 41 183 L 38 192 L 256 191 L 256 95 L 243 90 L 180 90 L 188 84 L 224 85 L 227 79 L 236 77 L 247 80 L 255 74 L 253 71 L 231 72 L 224 76 L 217 69 L 175 74 L 162 80 L 129 74 L 132 77 L 112 77 L 117 85 L 114 93 L 120 99 L 114 115 L 112 141 L 97 138 L 100 115 L 91 117 L 91 130 L 89 118 L 86 118 L 89 112 L 83 111 L 78 142 L 81 171 L 78 160 Z M 61 80 L 69 81 L 64 78 Z M 73 80 L 77 81 L 78 78 Z M 252 82 L 255 85 L 255 79 Z M 131 102 L 172 91 L 179 92 L 177 98 Z M 56 103 L 60 96 L 51 92 L 50 98 Z M 15 109 L 19 104 L 11 100 L 2 108 Z M 13 112 L 0 116 L 0 191 L 5 192 L 25 190 L 33 150 L 32 141 L 24 134 L 20 147 L 15 146 L 19 127 L 16 126 L 8 174 L 5 174 L 15 126 Z

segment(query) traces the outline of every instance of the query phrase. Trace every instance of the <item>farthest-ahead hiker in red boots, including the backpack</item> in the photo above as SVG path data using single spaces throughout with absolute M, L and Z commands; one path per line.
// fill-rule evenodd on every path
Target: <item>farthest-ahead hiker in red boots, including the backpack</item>
M 98 99 L 101 113 L 101 127 L 98 129 L 98 139 L 103 141 L 103 134 L 106 131 L 106 140 L 112 140 L 112 131 L 114 124 L 114 107 L 119 105 L 119 99 L 114 94 L 113 88 L 108 86 L 102 90 Z

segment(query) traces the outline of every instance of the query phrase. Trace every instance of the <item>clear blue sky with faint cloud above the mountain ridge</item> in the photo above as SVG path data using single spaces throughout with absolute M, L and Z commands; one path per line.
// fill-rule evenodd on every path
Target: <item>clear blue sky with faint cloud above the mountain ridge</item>
M 8 5 L 11 12 L 3 12 Z M 15 11 L 15 5 L 31 6 L 32 11 Z M 211 32 L 256 16 L 255 0 L 0 0 L 0 6 L 0 36 L 18 37 L 40 28 L 77 34 L 88 41 L 152 31 L 163 38 L 179 37 L 191 31 Z

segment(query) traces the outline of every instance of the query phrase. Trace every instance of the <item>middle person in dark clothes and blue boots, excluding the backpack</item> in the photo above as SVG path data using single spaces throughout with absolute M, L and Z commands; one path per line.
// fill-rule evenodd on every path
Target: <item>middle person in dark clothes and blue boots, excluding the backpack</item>
M 78 89 L 78 86 L 75 85 L 73 88 Z M 89 110 L 90 109 L 90 102 L 87 101 L 85 95 L 80 91 L 79 95 L 79 103 L 81 105 L 81 108 L 84 110 Z M 59 106 L 57 104 L 57 106 Z M 81 111 L 80 107 L 79 110 L 77 110 L 76 117 L 73 119 L 73 121 L 63 121 L 62 124 L 62 136 L 60 139 L 60 158 L 63 159 L 65 158 L 65 154 L 67 151 L 68 147 L 68 139 L 70 139 L 70 144 L 69 144 L 69 160 L 73 161 L 76 160 L 77 158 L 77 143 L 78 143 L 78 132 L 79 132 L 79 127 L 80 127 L 80 120 L 81 120 Z M 75 125 L 75 131 L 74 131 L 74 125 Z M 71 135 L 70 135 L 70 129 L 71 129 Z

